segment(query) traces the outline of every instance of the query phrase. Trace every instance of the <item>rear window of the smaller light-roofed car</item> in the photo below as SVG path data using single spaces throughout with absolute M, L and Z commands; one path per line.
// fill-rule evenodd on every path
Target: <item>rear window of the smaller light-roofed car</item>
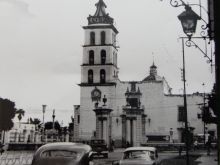
M 124 153 L 123 159 L 145 159 L 154 160 L 154 153 L 151 151 L 135 150 Z

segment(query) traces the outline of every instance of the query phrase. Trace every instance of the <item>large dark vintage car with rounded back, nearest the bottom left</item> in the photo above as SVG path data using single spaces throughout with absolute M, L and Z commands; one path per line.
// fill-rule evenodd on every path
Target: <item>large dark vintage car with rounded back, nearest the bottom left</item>
M 92 165 L 92 149 L 80 143 L 49 143 L 34 154 L 31 165 Z

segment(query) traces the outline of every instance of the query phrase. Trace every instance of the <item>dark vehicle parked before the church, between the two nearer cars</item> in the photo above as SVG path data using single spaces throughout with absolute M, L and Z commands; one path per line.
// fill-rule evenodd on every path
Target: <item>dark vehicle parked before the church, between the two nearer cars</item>
M 93 156 L 103 155 L 105 158 L 108 158 L 108 147 L 103 139 L 94 139 L 90 141 L 90 146 L 92 147 Z

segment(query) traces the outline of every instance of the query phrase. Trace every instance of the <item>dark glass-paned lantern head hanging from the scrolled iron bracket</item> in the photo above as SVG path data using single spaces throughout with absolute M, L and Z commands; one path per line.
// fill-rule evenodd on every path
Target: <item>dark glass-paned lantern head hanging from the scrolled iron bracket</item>
M 191 39 L 193 33 L 196 31 L 197 21 L 201 19 L 189 5 L 185 6 L 185 11 L 178 15 L 181 21 L 183 32 Z

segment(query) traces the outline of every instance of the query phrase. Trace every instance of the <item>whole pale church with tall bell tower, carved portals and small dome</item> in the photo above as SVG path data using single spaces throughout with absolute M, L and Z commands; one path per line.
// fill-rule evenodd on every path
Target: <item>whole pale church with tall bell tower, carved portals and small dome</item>
M 140 81 L 122 81 L 117 63 L 118 30 L 114 19 L 99 0 L 96 12 L 84 26 L 85 41 L 81 64 L 80 105 L 74 107 L 74 140 L 112 140 L 122 146 L 140 146 L 146 142 L 183 142 L 183 95 L 172 94 L 164 77 L 152 62 L 149 74 Z M 138 55 L 137 55 L 138 56 Z M 198 119 L 203 95 L 188 94 L 187 109 L 192 135 L 204 132 Z M 206 131 L 215 134 L 214 127 Z

